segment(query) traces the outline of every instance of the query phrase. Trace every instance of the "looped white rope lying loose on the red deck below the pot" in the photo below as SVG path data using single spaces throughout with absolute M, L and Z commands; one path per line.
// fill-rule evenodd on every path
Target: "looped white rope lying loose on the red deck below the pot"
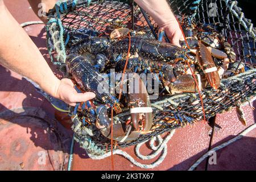
M 141 158 L 143 160 L 149 160 L 149 159 L 153 159 L 155 158 L 158 154 L 160 154 L 160 152 L 162 152 L 162 154 L 159 156 L 158 160 L 156 160 L 155 162 L 151 163 L 151 164 L 142 164 L 137 162 L 137 160 L 135 160 L 132 156 L 130 156 L 129 154 L 127 154 L 127 152 L 122 151 L 122 150 L 114 150 L 113 151 L 113 155 L 117 154 L 117 155 L 122 155 L 124 156 L 127 160 L 129 160 L 131 163 L 133 163 L 135 166 L 140 167 L 140 168 L 145 168 L 145 169 L 151 169 L 151 168 L 155 168 L 157 166 L 159 166 L 159 164 L 161 164 L 164 160 L 164 158 L 166 158 L 167 155 L 167 143 L 168 141 L 172 138 L 172 136 L 174 135 L 175 130 L 171 130 L 170 134 L 167 135 L 166 138 L 164 138 L 164 140 L 160 137 L 160 135 L 158 135 L 157 137 L 152 137 L 150 140 L 150 146 L 152 148 L 152 150 L 154 150 L 155 152 L 151 155 L 142 155 L 139 152 L 139 149 L 141 148 L 141 146 L 148 142 L 149 140 L 146 140 L 142 143 L 137 144 L 137 146 L 135 146 L 135 154 L 138 156 L 138 158 Z M 158 146 L 154 146 L 154 143 L 156 142 L 156 139 L 158 139 Z M 87 153 L 88 154 L 88 153 Z M 111 156 L 111 152 L 108 152 L 104 155 L 92 155 L 92 154 L 88 154 L 88 156 L 92 159 L 96 159 L 96 160 L 100 160 L 100 159 L 105 159 L 108 158 L 109 156 Z

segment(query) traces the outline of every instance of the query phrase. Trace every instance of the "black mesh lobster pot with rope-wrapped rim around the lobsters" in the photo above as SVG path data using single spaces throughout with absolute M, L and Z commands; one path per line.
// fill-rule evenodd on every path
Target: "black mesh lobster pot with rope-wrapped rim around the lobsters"
M 255 34 L 249 19 L 245 18 L 236 1 L 229 0 L 173 0 L 169 1 L 172 11 L 177 16 L 188 16 L 195 22 L 213 27 L 228 40 L 236 53 L 239 64 L 249 65 L 245 72 L 221 80 L 218 90 L 204 89 L 201 92 L 205 117 L 230 110 L 255 96 Z M 147 15 L 148 16 L 148 15 Z M 67 50 L 72 44 L 89 36 L 109 35 L 117 26 L 135 31 L 151 33 L 148 21 L 141 10 L 131 1 L 61 1 L 48 13 L 47 46 L 53 63 L 62 65 L 67 57 Z M 153 29 L 157 24 L 148 16 Z M 127 147 L 163 134 L 177 127 L 186 126 L 203 119 L 203 111 L 198 93 L 180 93 L 159 97 L 151 102 L 154 123 L 149 133 L 141 135 L 130 143 L 118 143 Z M 122 121 L 129 113 L 114 117 Z M 175 120 L 175 122 L 164 122 Z M 73 117 L 75 139 L 89 154 L 101 155 L 110 150 L 110 140 L 100 131 L 82 127 L 79 117 Z M 106 147 L 108 146 L 108 147 Z

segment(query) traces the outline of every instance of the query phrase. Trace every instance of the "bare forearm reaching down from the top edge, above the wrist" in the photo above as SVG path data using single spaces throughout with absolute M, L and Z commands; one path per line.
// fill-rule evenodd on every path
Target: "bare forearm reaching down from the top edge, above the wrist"
M 159 26 L 175 20 L 166 0 L 135 0 L 135 2 L 147 11 Z

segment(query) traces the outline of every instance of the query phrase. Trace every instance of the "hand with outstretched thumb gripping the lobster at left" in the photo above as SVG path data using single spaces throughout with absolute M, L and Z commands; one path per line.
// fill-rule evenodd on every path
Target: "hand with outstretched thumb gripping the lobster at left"
M 63 100 L 65 103 L 76 106 L 77 102 L 85 102 L 95 97 L 93 92 L 77 93 L 72 80 L 63 78 L 56 86 L 54 97 Z

